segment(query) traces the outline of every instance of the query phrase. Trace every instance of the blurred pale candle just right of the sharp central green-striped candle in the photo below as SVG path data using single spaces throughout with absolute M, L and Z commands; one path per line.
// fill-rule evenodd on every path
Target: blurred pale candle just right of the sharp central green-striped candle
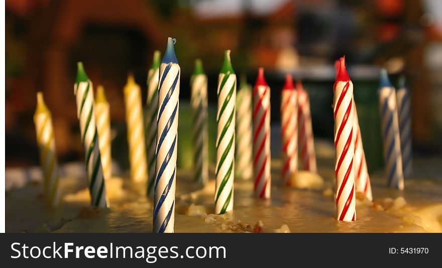
M 241 77 L 236 105 L 235 175 L 249 180 L 253 177 L 252 86 L 247 84 L 245 76 Z

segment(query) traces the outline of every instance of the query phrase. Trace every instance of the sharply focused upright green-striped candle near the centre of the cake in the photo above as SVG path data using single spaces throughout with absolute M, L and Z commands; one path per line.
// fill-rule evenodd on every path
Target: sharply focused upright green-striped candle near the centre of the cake
M 216 214 L 233 210 L 236 90 L 237 77 L 230 60 L 230 50 L 226 50 L 223 67 L 218 75 L 217 89 Z

